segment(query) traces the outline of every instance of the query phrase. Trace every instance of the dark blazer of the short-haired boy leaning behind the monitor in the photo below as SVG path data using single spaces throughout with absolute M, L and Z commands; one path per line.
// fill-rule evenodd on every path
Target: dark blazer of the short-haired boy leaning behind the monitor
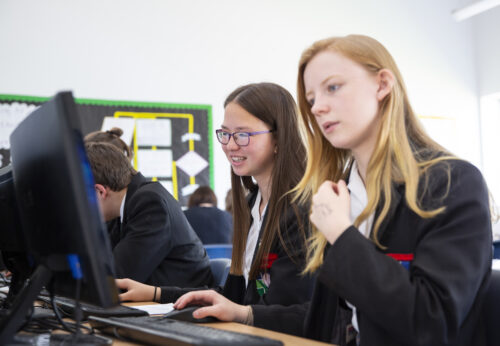
M 209 258 L 179 203 L 140 173 L 128 185 L 123 223 L 110 230 L 117 277 L 149 285 L 212 285 Z

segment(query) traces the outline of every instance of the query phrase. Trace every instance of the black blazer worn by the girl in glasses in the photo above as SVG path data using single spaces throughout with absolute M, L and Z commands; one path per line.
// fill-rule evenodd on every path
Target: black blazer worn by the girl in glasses
M 249 195 L 249 207 L 255 203 L 257 193 Z M 242 275 L 229 274 L 224 287 L 215 289 L 238 304 L 282 304 L 291 305 L 309 301 L 312 294 L 314 278 L 311 275 L 302 276 L 300 273 L 305 264 L 306 247 L 299 233 L 299 222 L 303 223 L 306 235 L 309 229 L 309 218 L 307 207 L 297 207 L 301 220 L 297 217 L 290 206 L 282 219 L 283 237 L 287 242 L 288 253 L 279 241 L 271 247 L 271 253 L 277 257 L 269 270 L 271 284 L 266 294 L 260 295 L 257 291 L 255 280 L 250 280 L 248 287 L 245 286 L 245 278 Z M 266 223 L 267 213 L 264 215 L 261 231 Z M 259 234 L 260 238 L 261 234 Z M 257 251 L 257 247 L 255 249 Z M 206 289 L 200 287 L 196 289 Z M 162 287 L 161 302 L 168 303 L 177 300 L 182 294 L 195 290 L 193 288 Z

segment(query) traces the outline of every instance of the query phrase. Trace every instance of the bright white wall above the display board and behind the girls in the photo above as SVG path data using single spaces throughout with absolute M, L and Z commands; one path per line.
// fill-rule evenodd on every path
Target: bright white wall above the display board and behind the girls
M 480 164 L 470 22 L 456 0 L 2 0 L 0 93 L 213 105 L 235 87 L 279 83 L 295 94 L 301 51 L 367 34 L 392 52 L 419 114 L 456 118 L 450 148 Z M 446 130 L 444 131 L 446 133 Z M 463 140 L 465 138 L 465 140 Z M 439 138 L 437 138 L 439 140 Z M 223 201 L 229 165 L 214 146 Z

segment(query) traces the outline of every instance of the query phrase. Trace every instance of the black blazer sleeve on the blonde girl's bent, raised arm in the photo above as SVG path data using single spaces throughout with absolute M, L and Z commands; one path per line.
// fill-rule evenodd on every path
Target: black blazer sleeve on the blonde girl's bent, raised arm
M 318 279 L 356 306 L 361 337 L 369 323 L 400 344 L 456 341 L 488 279 L 491 221 L 488 190 L 480 172 L 465 162 L 450 166 L 449 190 L 448 174 L 438 167 L 423 199 L 424 206 L 445 206 L 444 212 L 422 219 L 404 205 L 393 215 L 399 222 L 389 222 L 397 227 L 392 232 L 418 237 L 409 270 L 354 227 L 329 248 Z M 401 215 L 408 218 L 402 220 Z

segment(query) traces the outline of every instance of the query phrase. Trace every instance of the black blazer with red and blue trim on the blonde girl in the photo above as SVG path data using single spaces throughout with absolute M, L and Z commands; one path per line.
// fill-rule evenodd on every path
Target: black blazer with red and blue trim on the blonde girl
M 482 345 L 478 321 L 492 258 L 488 190 L 464 161 L 437 164 L 428 177 L 421 205 L 446 206 L 443 213 L 419 217 L 397 186 L 378 235 L 385 249 L 351 226 L 326 249 L 310 305 L 254 307 L 255 325 L 345 345 L 347 300 L 357 308 L 361 345 Z

